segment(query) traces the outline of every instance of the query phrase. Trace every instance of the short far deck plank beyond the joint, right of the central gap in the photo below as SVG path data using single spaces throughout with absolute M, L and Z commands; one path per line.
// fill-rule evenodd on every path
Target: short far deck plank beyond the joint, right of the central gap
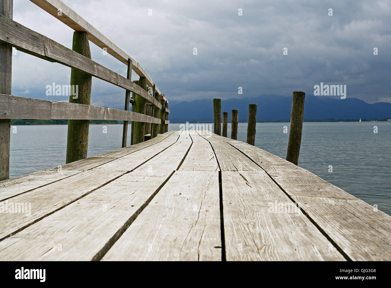
M 251 161 L 247 157 L 243 157 L 244 155 L 240 151 L 238 151 L 225 141 L 219 140 L 213 136 L 208 135 L 202 137 L 210 141 L 216 154 L 221 171 L 256 171 L 260 169 L 258 165 L 253 163 L 253 161 Z M 224 139 L 228 138 L 224 137 Z

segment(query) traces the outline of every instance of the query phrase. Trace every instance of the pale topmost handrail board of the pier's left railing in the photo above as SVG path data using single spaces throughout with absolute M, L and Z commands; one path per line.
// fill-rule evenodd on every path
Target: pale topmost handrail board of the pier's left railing
M 154 85 L 151 77 L 145 72 L 143 67 L 133 59 L 129 54 L 124 50 L 118 47 L 113 43 L 109 38 L 100 33 L 95 27 L 88 23 L 84 18 L 67 6 L 64 2 L 59 0 L 30 0 L 34 4 L 41 7 L 43 10 L 47 11 L 52 16 L 59 19 L 61 22 L 65 23 L 75 31 L 86 31 L 88 33 L 88 38 L 98 47 L 105 49 L 107 53 L 114 56 L 122 63 L 127 64 L 127 60 L 130 58 L 132 60 L 132 69 L 138 74 L 138 76 L 143 76 L 147 78 L 147 84 L 152 87 Z M 59 10 L 60 9 L 60 10 Z M 61 11 L 61 13 L 59 13 Z M 160 94 L 159 89 L 156 87 L 156 91 Z

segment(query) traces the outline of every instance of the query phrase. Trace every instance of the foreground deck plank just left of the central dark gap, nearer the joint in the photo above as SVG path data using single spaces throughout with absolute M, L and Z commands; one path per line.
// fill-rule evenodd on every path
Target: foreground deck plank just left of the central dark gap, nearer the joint
M 220 261 L 219 175 L 176 171 L 105 261 Z

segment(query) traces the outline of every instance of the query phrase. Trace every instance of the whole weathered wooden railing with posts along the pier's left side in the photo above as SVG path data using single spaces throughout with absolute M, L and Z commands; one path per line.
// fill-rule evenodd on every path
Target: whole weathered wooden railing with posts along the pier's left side
M 69 49 L 13 21 L 13 0 L 0 0 L 0 181 L 9 178 L 11 119 L 67 119 L 74 121 L 72 125 L 76 131 L 73 135 L 70 135 L 70 122 L 68 122 L 67 162 L 69 162 L 68 150 L 70 148 L 70 141 L 77 141 L 78 143 L 79 138 L 81 141 L 81 138 L 88 139 L 89 120 L 124 121 L 122 147 L 126 147 L 127 144 L 128 121 L 132 121 L 131 144 L 143 141 L 145 134 L 150 134 L 150 137 L 154 138 L 158 133 L 167 132 L 169 123 L 168 115 L 170 113 L 168 101 L 165 95 L 161 94 L 156 84 L 147 72 L 145 72 L 140 63 L 100 33 L 64 2 L 59 0 L 30 1 L 75 31 L 82 31 L 82 37 L 85 36 L 86 39 L 126 64 L 127 77 L 121 76 L 91 60 L 88 40 L 86 40 L 86 45 L 84 45 L 83 53 L 77 51 L 75 48 L 73 48 L 75 51 Z M 80 37 L 77 38 L 75 35 L 74 47 L 75 41 L 80 39 Z M 124 110 L 89 105 L 91 81 L 88 82 L 88 80 L 84 80 L 84 82 L 83 80 L 76 80 L 76 83 L 71 83 L 72 85 L 81 85 L 83 88 L 86 88 L 83 89 L 83 91 L 87 91 L 83 98 L 84 102 L 81 100 L 79 102 L 77 100 L 73 101 L 72 97 L 70 97 L 70 102 L 75 103 L 12 96 L 12 47 L 15 47 L 18 51 L 23 51 L 47 61 L 68 66 L 72 69 L 72 72 L 82 72 L 82 75 L 86 75 L 87 78 L 93 76 L 125 89 Z M 135 81 L 136 83 L 131 80 L 132 71 L 135 71 L 140 76 L 140 80 Z M 80 81 L 80 83 L 77 81 Z M 133 93 L 133 98 L 130 97 L 130 92 Z M 132 103 L 132 111 L 129 111 L 129 102 Z M 85 125 L 86 121 L 87 126 Z M 151 123 L 151 125 L 146 125 L 145 123 Z M 79 158 L 72 159 L 72 161 L 86 158 L 88 140 L 84 144 L 84 147 L 79 148 L 82 151 L 75 153 L 81 154 L 82 156 L 77 156 Z

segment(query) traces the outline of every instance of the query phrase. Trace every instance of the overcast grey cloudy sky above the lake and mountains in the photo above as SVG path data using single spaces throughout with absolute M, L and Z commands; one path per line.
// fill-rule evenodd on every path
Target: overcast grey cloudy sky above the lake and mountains
M 169 100 L 313 94 L 323 82 L 346 85 L 348 98 L 391 103 L 391 1 L 64 2 L 140 62 Z M 28 0 L 14 0 L 14 21 L 72 48 L 73 30 Z M 94 61 L 126 77 L 125 64 L 90 47 Z M 68 101 L 45 87 L 68 85 L 70 70 L 18 51 L 12 93 Z M 123 109 L 124 96 L 93 78 L 92 105 Z

